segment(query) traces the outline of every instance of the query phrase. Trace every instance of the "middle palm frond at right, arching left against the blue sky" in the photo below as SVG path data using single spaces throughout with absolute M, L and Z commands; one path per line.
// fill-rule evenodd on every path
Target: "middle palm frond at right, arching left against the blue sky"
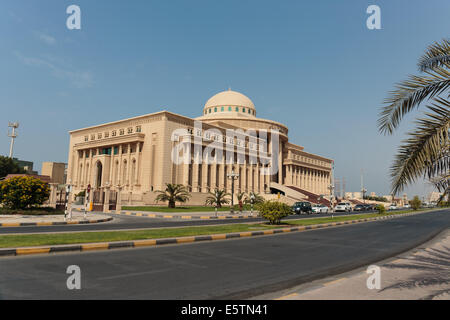
M 426 99 L 432 99 L 450 88 L 450 71 L 436 66 L 433 71 L 426 71 L 428 76 L 410 76 L 398 84 L 384 103 L 378 119 L 378 130 L 392 134 L 402 118 Z

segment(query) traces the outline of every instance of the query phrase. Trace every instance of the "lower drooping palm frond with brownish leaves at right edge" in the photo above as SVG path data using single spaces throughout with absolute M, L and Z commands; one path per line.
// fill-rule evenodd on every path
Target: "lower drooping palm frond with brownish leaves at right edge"
M 429 178 L 449 171 L 450 102 L 434 99 L 427 118 L 417 120 L 418 127 L 403 141 L 391 167 L 392 193 L 402 191 L 420 176 Z

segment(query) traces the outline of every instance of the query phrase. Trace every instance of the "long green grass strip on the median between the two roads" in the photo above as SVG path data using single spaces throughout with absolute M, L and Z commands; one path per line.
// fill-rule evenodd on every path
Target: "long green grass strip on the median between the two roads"
M 351 221 L 372 217 L 398 215 L 411 211 L 397 211 L 380 215 L 378 213 L 360 214 L 352 216 L 323 217 L 316 219 L 285 220 L 283 225 L 268 225 L 264 223 L 253 224 L 229 224 L 222 226 L 196 226 L 180 228 L 160 228 L 133 231 L 108 231 L 108 232 L 76 232 L 76 233 L 45 233 L 45 234 L 23 234 L 23 235 L 2 235 L 0 236 L 0 248 L 44 246 L 44 245 L 62 245 L 77 244 L 89 242 L 111 242 L 111 241 L 129 241 L 158 238 L 174 238 L 197 235 L 210 235 L 219 233 L 233 233 L 246 231 L 259 231 L 267 229 L 281 228 L 290 225 L 312 225 L 329 222 Z

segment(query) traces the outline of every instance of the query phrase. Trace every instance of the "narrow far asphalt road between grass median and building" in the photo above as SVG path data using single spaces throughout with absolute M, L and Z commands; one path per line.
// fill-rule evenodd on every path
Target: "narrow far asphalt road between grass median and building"
M 356 212 L 352 212 L 354 214 Z M 357 214 L 362 213 L 358 212 Z M 338 215 L 348 215 L 348 213 L 335 213 Z M 114 219 L 109 222 L 95 223 L 95 224 L 73 224 L 61 226 L 24 226 L 24 227 L 0 227 L 1 234 L 12 233 L 40 233 L 40 232 L 76 232 L 76 231 L 108 231 L 108 230 L 127 230 L 127 229 L 147 229 L 147 228 L 163 228 L 163 227 L 188 227 L 199 225 L 213 225 L 213 224 L 229 224 L 229 223 L 245 223 L 258 222 L 263 219 L 212 219 L 212 220 L 180 220 L 180 219 L 158 219 L 136 216 L 125 216 L 111 214 Z M 328 214 L 312 214 L 312 215 L 293 215 L 286 219 L 302 219 L 302 218 L 317 218 L 327 217 Z

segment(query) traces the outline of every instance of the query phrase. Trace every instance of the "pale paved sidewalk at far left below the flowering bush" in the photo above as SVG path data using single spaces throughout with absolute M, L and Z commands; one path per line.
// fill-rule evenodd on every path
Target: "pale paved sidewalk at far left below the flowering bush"
M 86 214 L 86 219 L 82 212 L 74 211 L 72 219 L 66 220 L 67 224 L 94 223 L 112 220 L 105 214 L 90 213 Z M 0 227 L 17 227 L 29 225 L 52 225 L 65 224 L 64 215 L 0 215 Z

